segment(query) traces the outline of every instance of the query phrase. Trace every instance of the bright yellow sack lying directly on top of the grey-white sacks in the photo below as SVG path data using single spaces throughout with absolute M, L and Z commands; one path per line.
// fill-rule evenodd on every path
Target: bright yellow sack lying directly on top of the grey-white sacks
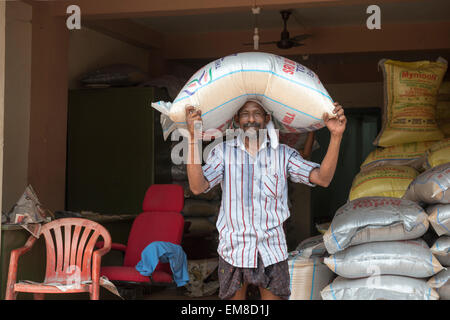
M 361 171 L 353 179 L 349 200 L 363 197 L 401 198 L 418 174 L 417 170 L 407 166 L 383 166 Z

